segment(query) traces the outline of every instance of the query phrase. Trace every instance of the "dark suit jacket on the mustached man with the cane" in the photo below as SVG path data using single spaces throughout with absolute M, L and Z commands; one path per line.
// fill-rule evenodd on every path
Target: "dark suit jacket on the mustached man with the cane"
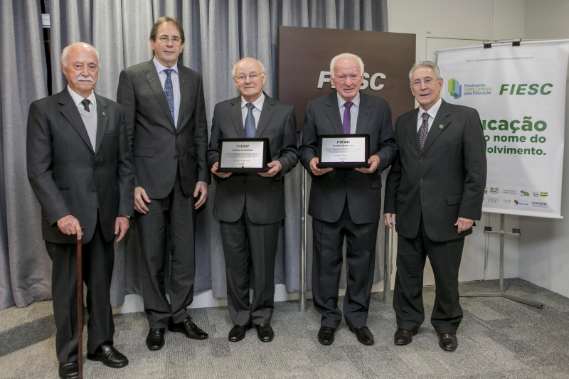
M 65 215 L 83 226 L 83 244 L 95 233 L 97 208 L 107 241 L 115 237 L 117 216 L 134 216 L 134 173 L 122 107 L 95 97 L 96 153 L 67 87 L 30 105 L 28 179 L 41 205 L 43 239 L 49 242 L 75 243 L 75 235 L 58 230 Z

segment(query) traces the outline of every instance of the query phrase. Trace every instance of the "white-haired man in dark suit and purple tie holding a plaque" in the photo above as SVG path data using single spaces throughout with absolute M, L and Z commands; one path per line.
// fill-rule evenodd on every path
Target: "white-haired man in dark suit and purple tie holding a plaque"
M 366 321 L 381 218 L 380 174 L 395 161 L 396 148 L 388 103 L 360 92 L 362 81 L 361 58 L 336 55 L 330 63 L 336 91 L 310 100 L 304 118 L 300 160 L 312 177 L 312 295 L 322 315 L 318 341 L 323 345 L 334 342 L 342 319 L 337 303 L 344 237 L 349 269 L 344 318 L 360 343 L 373 345 Z

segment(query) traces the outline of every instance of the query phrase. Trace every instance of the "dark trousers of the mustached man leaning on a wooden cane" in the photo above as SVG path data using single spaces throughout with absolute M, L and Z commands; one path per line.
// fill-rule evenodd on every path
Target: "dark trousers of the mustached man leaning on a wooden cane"
M 77 315 L 77 245 L 46 241 L 53 262 L 51 294 L 55 316 L 55 350 L 58 361 L 78 361 Z M 110 285 L 115 264 L 113 241 L 105 241 L 100 219 L 95 233 L 83 245 L 83 282 L 87 284 L 87 352 L 95 353 L 102 343 L 113 343 L 115 323 L 112 321 Z

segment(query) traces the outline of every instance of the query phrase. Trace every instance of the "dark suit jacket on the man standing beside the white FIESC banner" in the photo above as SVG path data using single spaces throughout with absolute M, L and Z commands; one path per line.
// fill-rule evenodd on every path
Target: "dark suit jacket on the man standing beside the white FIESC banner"
M 385 184 L 385 213 L 395 213 L 397 233 L 415 238 L 420 219 L 430 240 L 456 240 L 457 218 L 480 220 L 486 186 L 486 142 L 477 110 L 442 100 L 422 151 L 418 109 L 398 117 L 398 158 Z M 440 127 L 442 125 L 442 128 Z

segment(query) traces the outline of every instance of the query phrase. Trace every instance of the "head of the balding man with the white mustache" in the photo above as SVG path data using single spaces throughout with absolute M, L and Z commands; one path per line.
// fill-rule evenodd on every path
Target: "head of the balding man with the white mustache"
M 73 91 L 85 98 L 91 95 L 99 78 L 99 60 L 95 50 L 85 45 L 71 47 L 67 65 L 62 62 L 61 69 Z

